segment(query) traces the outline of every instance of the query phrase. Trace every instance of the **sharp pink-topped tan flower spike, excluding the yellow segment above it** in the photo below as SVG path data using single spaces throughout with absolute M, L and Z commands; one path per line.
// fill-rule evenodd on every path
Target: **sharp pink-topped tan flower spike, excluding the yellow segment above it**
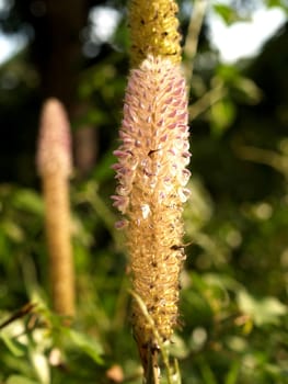
M 183 203 L 189 171 L 187 97 L 180 66 L 149 56 L 130 72 L 126 89 L 122 144 L 114 155 L 118 187 L 114 205 L 125 219 L 134 291 L 141 297 L 163 340 L 177 321 L 178 275 L 185 258 Z M 134 331 L 143 364 L 155 348 L 151 326 L 137 303 Z

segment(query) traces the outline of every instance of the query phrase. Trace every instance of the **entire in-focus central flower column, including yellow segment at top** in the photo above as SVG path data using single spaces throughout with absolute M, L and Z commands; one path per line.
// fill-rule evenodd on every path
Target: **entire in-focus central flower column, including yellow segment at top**
M 177 325 L 185 259 L 182 213 L 189 195 L 191 154 L 176 13 L 174 0 L 130 0 L 133 69 L 122 143 L 114 151 L 118 184 L 112 199 L 123 214 L 116 227 L 126 234 L 133 328 L 148 384 L 159 383 L 159 350 L 164 355 L 163 346 Z

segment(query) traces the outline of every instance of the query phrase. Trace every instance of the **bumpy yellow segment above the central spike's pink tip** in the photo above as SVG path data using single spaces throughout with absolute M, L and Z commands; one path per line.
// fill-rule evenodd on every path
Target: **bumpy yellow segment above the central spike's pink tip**
M 138 67 L 149 54 L 178 64 L 181 35 L 175 1 L 130 0 L 129 11 L 133 67 Z

